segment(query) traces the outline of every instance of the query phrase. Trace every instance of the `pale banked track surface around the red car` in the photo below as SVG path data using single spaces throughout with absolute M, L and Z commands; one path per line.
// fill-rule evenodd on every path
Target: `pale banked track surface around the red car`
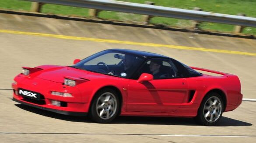
M 243 102 L 223 114 L 218 126 L 197 125 L 193 119 L 118 117 L 111 124 L 93 123 L 85 117 L 64 116 L 15 103 L 11 83 L 21 67 L 43 64 L 71 65 L 76 58 L 111 48 L 160 53 L 189 66 L 203 67 L 239 76 L 245 98 L 256 98 L 256 40 L 172 30 L 60 20 L 0 13 L 0 30 L 46 33 L 78 40 L 25 33 L 0 32 L 0 142 L 171 142 L 230 143 L 256 141 L 256 102 Z M 100 39 L 121 41 L 111 43 Z M 130 41 L 130 42 L 122 42 Z M 132 44 L 131 42 L 147 43 Z M 168 46 L 152 46 L 156 43 Z M 175 49 L 182 46 L 184 49 Z M 189 47 L 228 50 L 227 53 L 189 50 Z

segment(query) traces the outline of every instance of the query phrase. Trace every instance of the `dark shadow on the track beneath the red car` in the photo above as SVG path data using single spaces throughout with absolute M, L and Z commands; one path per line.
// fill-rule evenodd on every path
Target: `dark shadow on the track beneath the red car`
M 32 113 L 42 116 L 55 118 L 59 120 L 66 120 L 70 122 L 87 122 L 94 123 L 86 116 L 67 116 L 46 110 L 41 110 L 23 104 L 15 104 L 15 106 Z M 197 124 L 193 118 L 174 118 L 174 117 L 141 117 L 141 116 L 118 116 L 111 122 L 112 124 L 153 124 L 153 125 L 188 125 L 188 126 L 201 126 Z M 243 122 L 240 120 L 231 119 L 222 116 L 217 126 L 252 126 L 251 123 Z

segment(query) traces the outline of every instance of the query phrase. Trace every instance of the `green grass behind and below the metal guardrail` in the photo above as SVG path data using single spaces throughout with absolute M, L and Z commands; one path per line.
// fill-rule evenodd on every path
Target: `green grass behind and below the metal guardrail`
M 133 3 L 144 3 L 145 1 L 152 1 L 155 5 L 164 7 L 176 7 L 182 9 L 192 10 L 194 7 L 200 7 L 203 11 L 224 13 L 236 15 L 237 13 L 244 13 L 248 17 L 256 17 L 256 0 L 120 0 Z M 31 2 L 23 0 L 0 0 L 0 9 L 4 10 L 20 10 L 30 11 Z M 45 4 L 42 8 L 42 13 L 72 15 L 88 17 L 88 9 L 79 7 L 67 7 L 54 4 Z M 102 11 L 99 13 L 100 18 L 110 20 L 122 20 L 131 22 L 141 22 L 142 16 L 130 13 L 118 13 L 112 11 Z M 191 28 L 191 21 L 180 20 L 173 18 L 154 17 L 151 23 L 165 24 L 171 27 Z M 201 23 L 200 27 L 203 30 L 232 32 L 233 25 L 219 24 L 219 23 Z M 256 35 L 256 28 L 246 27 L 243 30 L 245 34 Z

